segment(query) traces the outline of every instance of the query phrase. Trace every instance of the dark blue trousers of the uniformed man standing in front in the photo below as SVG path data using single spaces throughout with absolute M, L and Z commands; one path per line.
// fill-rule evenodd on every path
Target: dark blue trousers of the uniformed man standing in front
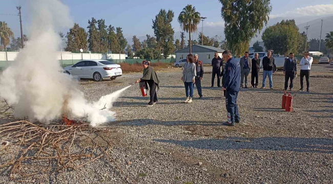
M 225 107 L 227 111 L 228 123 L 235 124 L 240 121 L 238 113 L 237 97 L 239 90 L 226 90 L 225 91 Z

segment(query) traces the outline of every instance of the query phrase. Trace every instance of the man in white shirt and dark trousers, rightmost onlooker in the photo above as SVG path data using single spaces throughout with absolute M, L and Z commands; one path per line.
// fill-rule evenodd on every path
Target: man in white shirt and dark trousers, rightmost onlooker
M 306 91 L 309 92 L 309 86 L 310 86 L 310 70 L 311 70 L 311 64 L 314 61 L 312 57 L 309 56 L 309 52 L 306 51 L 303 53 L 303 58 L 300 61 L 301 65 L 301 72 L 300 72 L 300 79 L 301 79 L 301 88 L 299 91 L 304 91 L 303 90 L 303 78 L 305 76 L 306 80 Z

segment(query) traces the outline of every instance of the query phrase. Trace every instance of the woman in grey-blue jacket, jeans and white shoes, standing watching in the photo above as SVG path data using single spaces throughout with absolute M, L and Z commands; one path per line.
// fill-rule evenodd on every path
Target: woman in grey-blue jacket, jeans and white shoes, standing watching
M 188 62 L 184 64 L 183 76 L 181 80 L 184 82 L 186 100 L 184 103 L 191 103 L 193 98 L 193 84 L 195 83 L 195 63 L 192 54 L 189 54 L 186 59 Z

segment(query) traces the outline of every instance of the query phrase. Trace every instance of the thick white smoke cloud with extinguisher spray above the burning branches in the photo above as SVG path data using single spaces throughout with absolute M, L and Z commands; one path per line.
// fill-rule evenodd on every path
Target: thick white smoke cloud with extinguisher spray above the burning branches
M 63 114 L 86 116 L 92 126 L 114 121 L 115 113 L 109 109 L 126 88 L 88 103 L 77 82 L 63 73 L 56 60 L 61 43 L 57 32 L 73 25 L 69 9 L 58 0 L 29 2 L 30 39 L 0 77 L 0 97 L 14 107 L 16 117 L 52 121 Z

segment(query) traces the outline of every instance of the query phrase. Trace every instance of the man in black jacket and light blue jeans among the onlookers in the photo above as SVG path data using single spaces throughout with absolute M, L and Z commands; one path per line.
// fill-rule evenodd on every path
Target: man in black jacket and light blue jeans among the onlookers
M 275 59 L 272 56 L 272 52 L 268 51 L 267 52 L 267 56 L 265 56 L 264 58 L 262 58 L 262 68 L 263 68 L 263 72 L 262 72 L 262 86 L 261 88 L 264 89 L 265 88 L 265 84 L 266 84 L 266 77 L 268 75 L 268 79 L 269 79 L 269 88 L 273 89 L 273 66 L 275 65 Z

